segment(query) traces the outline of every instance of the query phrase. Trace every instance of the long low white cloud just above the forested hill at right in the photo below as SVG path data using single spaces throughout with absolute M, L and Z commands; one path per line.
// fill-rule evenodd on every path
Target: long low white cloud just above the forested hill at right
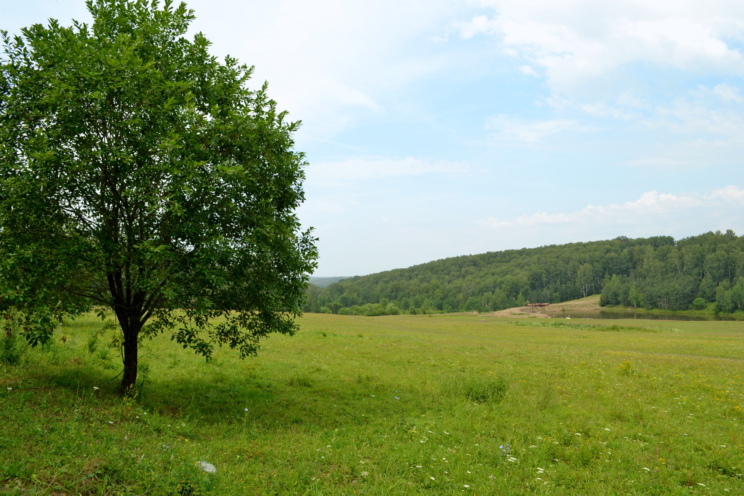
M 739 210 L 744 206 L 744 190 L 737 186 L 727 186 L 705 195 L 691 193 L 688 195 L 674 195 L 648 191 L 633 202 L 623 204 L 592 205 L 571 213 L 539 212 L 523 215 L 511 221 L 489 217 L 479 221 L 481 225 L 493 228 L 534 227 L 537 225 L 577 225 L 587 222 L 601 222 L 603 224 L 633 225 L 644 222 L 648 218 L 664 217 L 670 214 L 686 212 L 691 215 L 697 213 L 719 213 L 721 209 Z

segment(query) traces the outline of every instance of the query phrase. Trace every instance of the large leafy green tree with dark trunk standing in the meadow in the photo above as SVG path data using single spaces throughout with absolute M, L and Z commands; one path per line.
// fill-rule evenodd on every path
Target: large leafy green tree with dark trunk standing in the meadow
M 55 319 L 110 309 L 138 342 L 159 332 L 209 357 L 292 334 L 318 257 L 301 231 L 298 123 L 212 57 L 193 11 L 87 2 L 92 25 L 4 37 L 0 59 L 0 296 L 31 344 Z

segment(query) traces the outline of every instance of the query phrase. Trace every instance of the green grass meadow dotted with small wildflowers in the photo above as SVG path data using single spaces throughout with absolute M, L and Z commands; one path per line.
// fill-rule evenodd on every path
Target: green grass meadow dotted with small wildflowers
M 134 400 L 65 323 L 0 366 L 0 491 L 744 494 L 743 322 L 482 318 L 307 314 L 246 361 L 162 336 Z

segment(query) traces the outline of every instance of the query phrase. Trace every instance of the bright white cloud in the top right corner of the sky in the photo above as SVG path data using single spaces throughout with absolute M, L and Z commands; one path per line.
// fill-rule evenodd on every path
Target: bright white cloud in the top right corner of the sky
M 618 71 L 645 62 L 696 74 L 744 74 L 742 54 L 727 43 L 741 39 L 741 2 L 490 0 L 481 6 L 496 15 L 455 22 L 461 36 L 498 36 L 505 53 L 544 68 L 555 91 L 577 94 L 588 80 L 612 85 Z

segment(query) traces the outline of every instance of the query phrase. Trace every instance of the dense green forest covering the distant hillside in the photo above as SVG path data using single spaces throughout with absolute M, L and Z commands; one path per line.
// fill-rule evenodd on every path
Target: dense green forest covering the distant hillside
M 601 294 L 601 305 L 744 309 L 744 236 L 709 232 L 493 251 L 307 289 L 305 312 L 493 312 Z M 710 303 L 715 302 L 712 306 Z

